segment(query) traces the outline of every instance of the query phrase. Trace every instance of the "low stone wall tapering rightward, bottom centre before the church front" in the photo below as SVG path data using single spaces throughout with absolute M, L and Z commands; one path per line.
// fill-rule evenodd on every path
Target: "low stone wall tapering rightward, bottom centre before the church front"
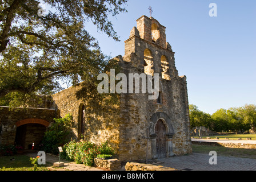
M 177 171 L 177 169 L 163 166 L 154 166 L 153 164 L 126 163 L 126 171 Z

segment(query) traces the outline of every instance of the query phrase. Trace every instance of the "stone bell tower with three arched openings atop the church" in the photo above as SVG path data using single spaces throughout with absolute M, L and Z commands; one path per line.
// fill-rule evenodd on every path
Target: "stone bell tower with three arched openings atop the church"
M 147 75 L 159 73 L 165 80 L 178 77 L 173 50 L 166 42 L 166 27 L 145 15 L 137 19 L 130 38 L 125 41 L 124 60 L 143 69 Z

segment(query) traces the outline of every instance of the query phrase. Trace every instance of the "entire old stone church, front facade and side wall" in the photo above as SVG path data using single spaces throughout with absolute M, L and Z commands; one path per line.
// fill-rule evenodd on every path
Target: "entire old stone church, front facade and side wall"
M 159 74 L 159 98 L 149 94 L 109 94 L 101 102 L 85 100 L 83 82 L 53 95 L 61 117 L 73 114 L 74 138 L 105 140 L 120 160 L 157 159 L 191 153 L 186 76 L 179 77 L 166 27 L 143 15 L 125 41 L 125 55 L 110 61 L 117 73 Z M 106 71 L 106 72 L 109 72 Z M 114 101 L 114 102 L 113 102 Z

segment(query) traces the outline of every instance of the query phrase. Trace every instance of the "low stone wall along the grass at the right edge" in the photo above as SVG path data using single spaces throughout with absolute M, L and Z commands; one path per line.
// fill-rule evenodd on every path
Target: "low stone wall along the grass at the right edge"
M 198 142 L 192 141 L 193 144 L 201 144 L 207 146 L 222 146 L 227 148 L 247 148 L 247 149 L 256 149 L 256 144 L 250 143 L 221 143 L 221 142 Z

